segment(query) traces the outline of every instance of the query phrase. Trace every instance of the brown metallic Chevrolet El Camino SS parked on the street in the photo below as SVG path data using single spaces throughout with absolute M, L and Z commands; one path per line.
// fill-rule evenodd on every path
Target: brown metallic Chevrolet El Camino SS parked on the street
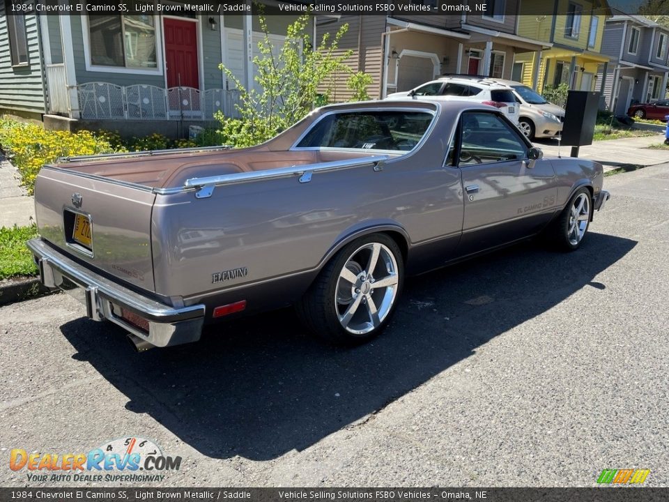
M 63 159 L 41 169 L 43 283 L 138 349 L 295 304 L 317 335 L 368 340 L 405 275 L 544 231 L 575 250 L 609 198 L 602 167 L 543 158 L 472 102 L 332 105 L 248 149 Z

